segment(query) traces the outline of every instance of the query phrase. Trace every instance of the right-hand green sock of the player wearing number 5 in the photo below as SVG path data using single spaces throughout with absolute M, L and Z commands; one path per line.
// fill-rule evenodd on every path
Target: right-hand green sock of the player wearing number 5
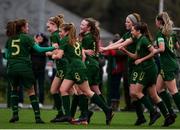
M 37 97 L 35 95 L 29 96 L 32 108 L 34 110 L 35 118 L 40 118 L 40 110 L 39 110 L 39 102 L 37 100 Z

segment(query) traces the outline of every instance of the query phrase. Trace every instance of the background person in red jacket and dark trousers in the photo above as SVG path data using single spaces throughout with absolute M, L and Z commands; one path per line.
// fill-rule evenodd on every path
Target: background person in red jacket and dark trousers
M 114 35 L 113 43 L 120 39 L 119 34 Z M 111 43 L 110 43 L 111 44 Z M 123 72 L 125 70 L 125 62 L 127 56 L 121 53 L 119 50 L 109 50 L 104 53 L 108 60 L 107 73 L 108 73 L 108 88 L 107 88 L 107 103 L 113 110 L 119 111 L 120 102 L 120 84 L 121 78 L 125 80 Z M 128 87 L 128 84 L 124 83 L 124 87 Z M 126 86 L 125 86 L 126 85 Z

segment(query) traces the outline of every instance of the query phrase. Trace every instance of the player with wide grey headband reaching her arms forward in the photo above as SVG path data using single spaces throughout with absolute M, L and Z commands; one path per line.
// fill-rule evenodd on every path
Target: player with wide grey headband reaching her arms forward
M 125 47 L 125 46 L 129 46 L 127 47 L 127 49 L 131 52 L 135 52 L 136 50 L 136 42 L 133 41 L 133 36 L 131 34 L 131 29 L 132 29 L 132 26 L 134 24 L 136 24 L 137 22 L 140 22 L 141 21 L 141 16 L 138 14 L 138 13 L 132 13 L 132 14 L 129 14 L 126 19 L 125 19 L 125 27 L 126 27 L 126 30 L 127 32 L 121 37 L 120 40 L 118 40 L 117 42 L 113 43 L 113 44 L 110 44 L 108 45 L 107 47 L 101 47 L 100 48 L 100 51 L 103 52 L 103 51 L 107 51 L 107 50 L 112 50 L 112 49 L 118 49 L 120 47 Z M 135 125 L 141 125 L 143 123 L 146 122 L 145 120 L 145 117 L 143 115 L 143 106 L 141 104 L 140 101 L 136 101 L 133 99 L 130 98 L 130 88 L 131 88 L 131 84 L 130 84 L 130 75 L 132 74 L 132 70 L 134 68 L 134 59 L 128 57 L 128 60 L 127 60 L 127 68 L 128 68 L 128 84 L 129 84 L 129 87 L 126 88 L 126 91 L 125 93 L 127 94 L 125 97 L 125 101 L 126 101 L 126 107 L 125 107 L 125 110 L 130 110 L 133 108 L 133 106 L 135 107 L 135 111 L 136 111 L 136 114 L 137 114 L 137 120 L 135 122 Z M 132 101 L 132 102 L 131 102 Z

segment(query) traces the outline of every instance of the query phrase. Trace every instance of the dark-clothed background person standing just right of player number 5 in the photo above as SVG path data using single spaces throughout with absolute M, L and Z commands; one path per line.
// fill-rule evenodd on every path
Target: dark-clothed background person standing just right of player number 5
M 48 46 L 48 39 L 43 33 L 35 35 L 37 44 L 41 47 Z M 35 76 L 35 91 L 39 97 L 39 107 L 42 108 L 44 104 L 44 81 L 45 81 L 45 66 L 46 66 L 46 55 L 44 53 L 38 53 L 34 50 L 31 52 L 32 69 Z

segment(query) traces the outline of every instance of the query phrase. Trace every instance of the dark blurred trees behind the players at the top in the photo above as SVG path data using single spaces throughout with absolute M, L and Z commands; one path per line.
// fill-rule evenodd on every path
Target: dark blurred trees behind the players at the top
M 136 12 L 155 33 L 155 17 L 159 0 L 51 0 L 81 17 L 94 17 L 101 27 L 111 33 L 125 32 L 124 22 L 128 14 Z M 164 10 L 169 13 L 175 26 L 180 26 L 180 0 L 164 0 Z

